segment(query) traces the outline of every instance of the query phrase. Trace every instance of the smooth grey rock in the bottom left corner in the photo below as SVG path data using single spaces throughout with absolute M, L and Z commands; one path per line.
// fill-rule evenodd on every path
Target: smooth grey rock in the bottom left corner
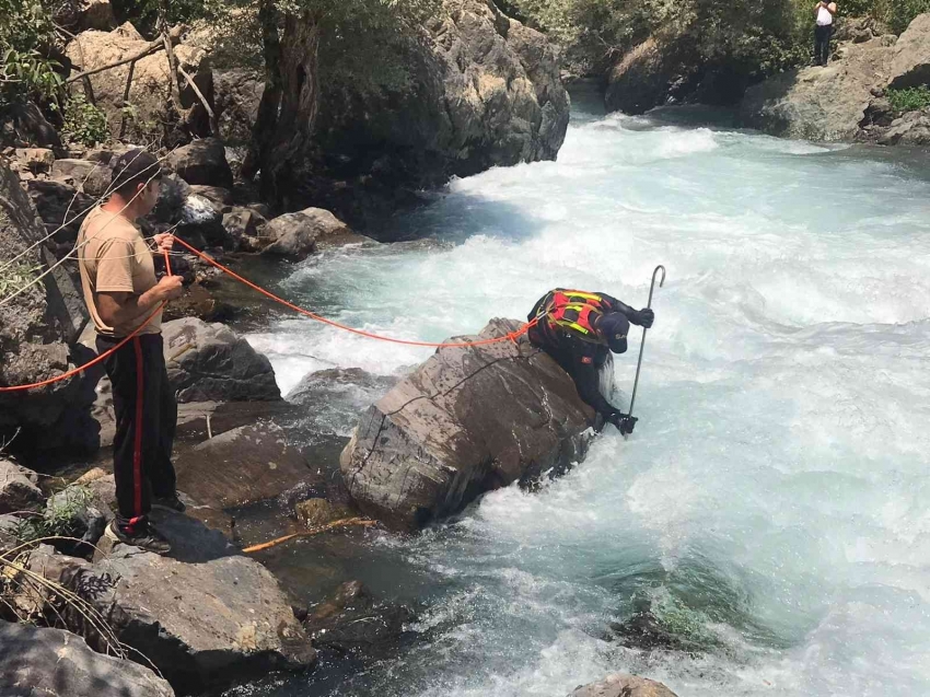
M 92 650 L 63 629 L 0 622 L 0 694 L 5 697 L 174 697 L 147 667 Z

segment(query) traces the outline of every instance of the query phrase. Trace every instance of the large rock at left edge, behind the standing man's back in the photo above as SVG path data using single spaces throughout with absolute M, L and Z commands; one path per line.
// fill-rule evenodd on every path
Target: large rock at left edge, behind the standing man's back
M 39 382 L 82 360 L 68 347 L 86 321 L 80 281 L 60 266 L 33 283 L 42 268 L 56 262 L 45 244 L 33 247 L 45 236 L 19 178 L 0 160 L 0 294 L 7 298 L 24 289 L 0 305 L 0 386 Z M 94 395 L 93 388 L 84 387 L 71 380 L 0 393 L 0 442 L 21 429 L 13 445 L 23 451 L 85 445 L 86 433 L 75 425 Z

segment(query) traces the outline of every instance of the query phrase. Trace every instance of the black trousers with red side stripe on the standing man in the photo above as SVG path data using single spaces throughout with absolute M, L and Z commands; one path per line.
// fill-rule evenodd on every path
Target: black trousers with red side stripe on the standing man
M 97 337 L 97 351 L 103 353 L 120 340 Z M 113 383 L 116 411 L 116 522 L 130 533 L 144 530 L 148 524 L 152 496 L 175 493 L 171 451 L 177 403 L 168 384 L 162 347 L 161 334 L 143 334 L 104 361 Z

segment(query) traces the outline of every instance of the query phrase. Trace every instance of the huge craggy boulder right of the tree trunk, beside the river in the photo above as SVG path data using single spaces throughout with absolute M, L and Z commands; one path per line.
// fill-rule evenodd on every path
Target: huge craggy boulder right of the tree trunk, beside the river
M 555 160 L 570 101 L 543 34 L 489 0 L 446 0 L 419 36 L 391 42 L 403 86 L 322 85 L 316 138 L 336 172 L 419 188 Z

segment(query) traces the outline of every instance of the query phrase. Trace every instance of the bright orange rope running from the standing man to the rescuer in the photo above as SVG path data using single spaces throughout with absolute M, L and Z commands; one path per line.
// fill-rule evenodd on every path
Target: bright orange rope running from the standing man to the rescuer
M 537 322 L 539 322 L 539 318 L 536 317 L 532 322 L 527 322 L 526 324 L 524 324 L 522 327 L 520 327 L 515 332 L 509 332 L 504 336 L 499 336 L 499 337 L 495 337 L 495 338 L 491 338 L 491 339 L 480 339 L 478 341 L 432 342 L 432 341 L 410 341 L 410 340 L 407 340 L 407 339 L 395 339 L 395 338 L 390 337 L 390 336 L 381 336 L 379 334 L 372 334 L 371 332 L 363 332 L 362 329 L 356 329 L 354 327 L 350 327 L 350 326 L 347 326 L 345 324 L 339 324 L 338 322 L 334 322 L 333 320 L 327 320 L 326 317 L 318 315 L 314 312 L 311 312 L 310 310 L 304 310 L 303 307 L 300 307 L 299 305 L 294 305 L 293 303 L 288 302 L 283 298 L 279 298 L 278 295 L 276 295 L 271 291 L 265 290 L 260 286 L 256 286 L 252 281 L 243 278 L 242 276 L 240 276 L 239 274 L 236 274 L 232 269 L 223 266 L 222 264 L 210 258 L 209 256 L 207 256 L 206 254 L 204 254 L 199 249 L 196 249 L 195 247 L 190 246 L 184 240 L 182 240 L 179 237 L 175 237 L 174 240 L 175 240 L 175 242 L 177 242 L 182 246 L 187 247 L 187 249 L 191 254 L 195 254 L 196 256 L 200 257 L 201 259 L 204 259 L 208 264 L 211 264 L 212 266 L 217 267 L 218 269 L 220 269 L 224 274 L 233 277 L 240 283 L 244 283 L 245 286 L 248 286 L 253 290 L 258 291 L 259 293 L 261 293 L 263 295 L 265 295 L 267 298 L 270 298 L 275 302 L 282 304 L 286 307 L 293 310 L 294 312 L 299 312 L 300 314 L 305 315 L 305 316 L 310 317 L 311 320 L 315 320 L 317 322 L 322 322 L 323 324 L 328 324 L 329 326 L 336 327 L 337 329 L 342 329 L 344 332 L 351 332 L 352 334 L 358 334 L 359 336 L 364 336 L 364 337 L 368 337 L 370 339 L 379 339 L 381 341 L 390 341 L 391 344 L 403 344 L 405 346 L 425 346 L 425 347 L 429 347 L 429 348 L 468 348 L 470 346 L 488 346 L 490 344 L 500 344 L 501 341 L 513 341 L 515 344 L 516 339 L 519 339 L 521 336 L 526 334 L 533 326 L 536 325 Z M 162 252 L 164 253 L 164 256 L 165 256 L 165 267 L 167 269 L 167 274 L 168 274 L 168 276 L 171 276 L 172 270 L 171 270 L 171 262 L 168 260 L 168 253 L 167 253 L 166 249 L 163 249 Z M 15 385 L 15 386 L 12 386 L 12 387 L 0 387 L 0 393 L 2 393 L 2 392 L 20 392 L 20 391 L 24 391 L 24 390 L 35 390 L 37 387 L 44 387 L 45 385 L 50 385 L 53 383 L 60 382 L 62 380 L 68 380 L 69 377 L 71 377 L 73 375 L 77 375 L 79 373 L 84 372 L 89 368 L 96 365 L 97 363 L 105 360 L 106 358 L 112 356 L 114 352 L 116 352 L 117 350 L 123 348 L 123 346 L 125 346 L 126 342 L 129 341 L 129 339 L 133 338 L 142 329 L 144 329 L 149 325 L 149 323 L 152 320 L 154 320 L 155 315 L 164 306 L 165 306 L 165 303 L 162 303 L 161 305 L 159 305 L 158 310 L 155 310 L 155 312 L 153 312 L 146 320 L 146 322 L 139 328 L 137 328 L 132 334 L 127 336 L 125 339 L 123 339 L 123 341 L 120 341 L 119 344 L 114 346 L 112 349 L 109 349 L 109 350 L 105 351 L 104 353 L 101 353 L 100 356 L 97 356 L 94 360 L 90 361 L 89 363 L 85 363 L 84 365 L 81 365 L 80 368 L 69 370 L 68 372 L 62 373 L 60 375 L 57 375 L 55 377 L 49 377 L 48 380 L 44 380 L 42 382 L 32 383 L 32 384 L 28 384 L 28 385 Z

